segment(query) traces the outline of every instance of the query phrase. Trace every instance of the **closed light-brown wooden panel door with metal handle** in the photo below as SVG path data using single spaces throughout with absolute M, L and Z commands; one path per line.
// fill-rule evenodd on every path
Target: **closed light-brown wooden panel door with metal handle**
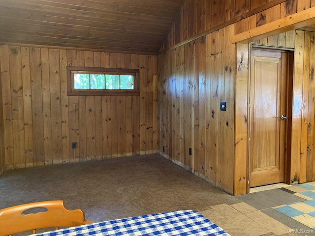
M 252 50 L 250 85 L 250 187 L 284 181 L 287 55 Z

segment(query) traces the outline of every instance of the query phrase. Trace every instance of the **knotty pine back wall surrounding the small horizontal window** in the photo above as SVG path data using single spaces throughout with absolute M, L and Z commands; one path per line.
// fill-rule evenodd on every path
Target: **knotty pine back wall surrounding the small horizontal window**
M 140 95 L 67 96 L 67 65 L 139 69 Z M 156 56 L 3 45 L 0 68 L 6 169 L 155 152 Z

